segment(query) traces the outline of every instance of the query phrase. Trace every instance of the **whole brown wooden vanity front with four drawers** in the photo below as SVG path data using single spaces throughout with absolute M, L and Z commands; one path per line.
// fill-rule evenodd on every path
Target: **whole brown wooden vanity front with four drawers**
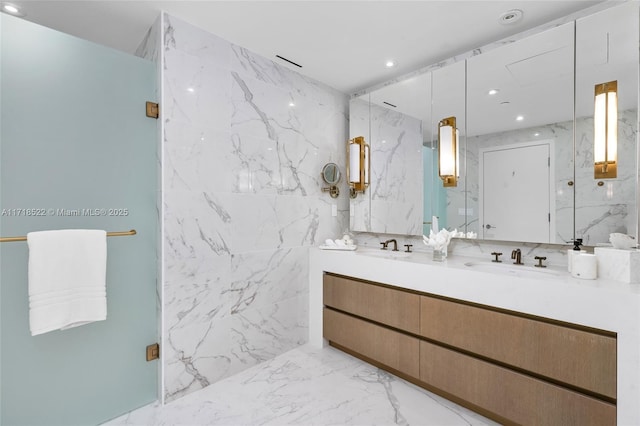
M 616 336 L 324 274 L 324 337 L 501 423 L 616 424 Z

